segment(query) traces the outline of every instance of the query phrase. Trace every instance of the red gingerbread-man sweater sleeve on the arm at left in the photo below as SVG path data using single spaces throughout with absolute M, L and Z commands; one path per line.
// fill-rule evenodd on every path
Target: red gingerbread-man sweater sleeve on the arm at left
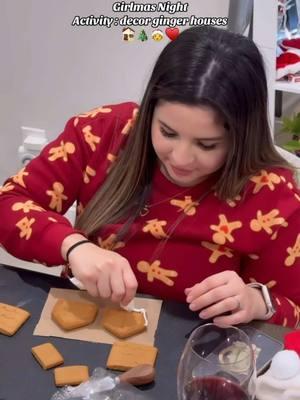
M 132 104 L 124 104 L 117 118 L 113 106 L 71 118 L 56 140 L 0 188 L 0 243 L 9 253 L 46 265 L 64 263 L 61 243 L 79 231 L 63 214 L 90 179 L 106 175 L 102 167 L 114 134 L 124 136 L 117 125 L 132 113 Z

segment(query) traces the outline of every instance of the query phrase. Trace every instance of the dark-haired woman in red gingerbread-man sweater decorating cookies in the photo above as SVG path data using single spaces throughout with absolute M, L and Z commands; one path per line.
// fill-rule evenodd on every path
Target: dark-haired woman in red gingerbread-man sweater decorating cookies
M 75 228 L 62 216 L 77 201 Z M 220 325 L 299 322 L 300 197 L 254 43 L 185 30 L 142 99 L 71 118 L 0 196 L 0 241 L 92 296 L 187 301 Z M 269 290 L 270 289 L 270 292 Z

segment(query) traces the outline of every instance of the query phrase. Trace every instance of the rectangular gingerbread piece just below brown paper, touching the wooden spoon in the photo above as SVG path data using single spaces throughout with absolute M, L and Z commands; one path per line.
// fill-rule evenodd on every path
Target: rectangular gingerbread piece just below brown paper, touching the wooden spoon
M 127 371 L 141 364 L 154 366 L 157 348 L 130 342 L 115 342 L 110 350 L 106 366 L 109 369 Z

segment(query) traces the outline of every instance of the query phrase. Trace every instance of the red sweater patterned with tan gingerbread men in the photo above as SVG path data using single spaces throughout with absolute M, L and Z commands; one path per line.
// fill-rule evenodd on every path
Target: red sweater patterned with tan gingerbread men
M 105 180 L 136 111 L 136 104 L 123 103 L 71 118 L 40 156 L 6 181 L 0 188 L 0 242 L 8 252 L 49 266 L 64 263 L 61 243 L 77 230 L 63 214 L 74 201 L 80 212 Z M 148 212 L 124 241 L 112 245 L 120 224 L 105 227 L 95 241 L 128 259 L 140 292 L 185 300 L 185 288 L 234 270 L 245 282 L 271 289 L 277 303 L 272 322 L 297 325 L 300 194 L 291 172 L 262 170 L 233 201 L 220 201 L 211 186 L 207 180 L 183 188 L 157 168 Z

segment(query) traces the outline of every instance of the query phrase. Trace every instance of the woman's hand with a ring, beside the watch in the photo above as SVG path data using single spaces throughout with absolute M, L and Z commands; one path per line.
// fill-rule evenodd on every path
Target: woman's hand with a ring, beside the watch
M 211 275 L 185 289 L 185 294 L 192 311 L 201 310 L 200 318 L 213 318 L 218 325 L 247 323 L 262 319 L 267 312 L 260 291 L 247 286 L 235 271 Z

